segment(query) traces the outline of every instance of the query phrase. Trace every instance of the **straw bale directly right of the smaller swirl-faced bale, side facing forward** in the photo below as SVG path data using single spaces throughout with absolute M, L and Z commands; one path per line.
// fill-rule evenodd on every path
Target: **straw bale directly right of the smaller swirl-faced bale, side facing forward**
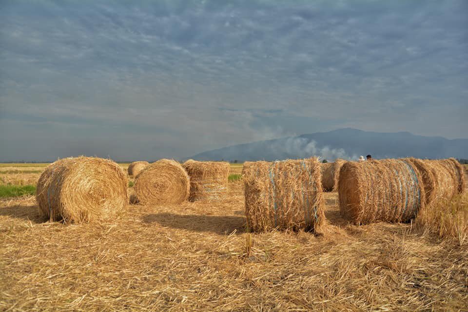
M 231 171 L 228 162 L 187 160 L 182 167 L 190 176 L 190 201 L 216 200 L 226 191 Z

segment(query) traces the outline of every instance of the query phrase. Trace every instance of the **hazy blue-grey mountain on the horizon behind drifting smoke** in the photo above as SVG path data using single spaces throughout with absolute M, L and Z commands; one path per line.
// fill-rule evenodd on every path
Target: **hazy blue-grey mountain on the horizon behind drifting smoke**
M 189 157 L 195 160 L 252 161 L 321 156 L 374 158 L 468 158 L 468 139 L 416 136 L 409 132 L 378 133 L 351 128 L 239 144 Z

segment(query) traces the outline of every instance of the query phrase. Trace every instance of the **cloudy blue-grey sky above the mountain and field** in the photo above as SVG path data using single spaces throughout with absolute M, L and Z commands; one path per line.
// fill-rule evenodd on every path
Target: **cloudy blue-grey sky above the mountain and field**
M 0 1 L 0 161 L 466 138 L 468 1 Z

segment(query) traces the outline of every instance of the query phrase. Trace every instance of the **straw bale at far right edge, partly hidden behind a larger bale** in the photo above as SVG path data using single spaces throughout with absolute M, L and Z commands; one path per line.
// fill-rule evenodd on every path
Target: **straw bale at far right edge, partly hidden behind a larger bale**
M 426 204 L 439 199 L 451 199 L 462 193 L 465 188 L 463 168 L 456 159 L 423 160 L 416 158 L 405 159 L 411 162 L 421 173 Z

